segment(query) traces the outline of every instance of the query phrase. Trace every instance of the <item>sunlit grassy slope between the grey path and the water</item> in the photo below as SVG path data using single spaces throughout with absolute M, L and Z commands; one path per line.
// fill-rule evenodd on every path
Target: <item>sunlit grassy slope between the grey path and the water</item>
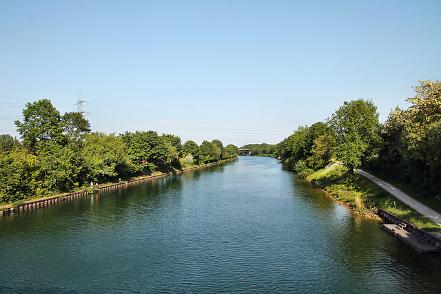
M 416 224 L 424 231 L 441 232 L 438 224 L 422 216 L 364 176 L 356 173 L 352 184 L 348 184 L 346 178 L 346 168 L 338 162 L 331 162 L 324 169 L 307 176 L 308 180 L 354 211 L 373 216 L 375 207 L 378 206 L 391 211 L 403 220 Z

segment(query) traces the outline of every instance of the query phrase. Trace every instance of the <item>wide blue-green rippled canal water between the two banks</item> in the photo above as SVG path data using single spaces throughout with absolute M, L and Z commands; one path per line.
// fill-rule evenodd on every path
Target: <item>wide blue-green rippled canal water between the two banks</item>
M 435 293 L 440 258 L 274 158 L 0 218 L 1 293 Z

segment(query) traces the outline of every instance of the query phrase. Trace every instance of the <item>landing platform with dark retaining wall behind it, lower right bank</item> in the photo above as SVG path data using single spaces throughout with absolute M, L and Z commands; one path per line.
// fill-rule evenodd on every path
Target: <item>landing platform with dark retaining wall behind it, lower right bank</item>
M 440 253 L 441 239 L 378 207 L 378 216 L 388 224 L 383 228 L 420 253 Z

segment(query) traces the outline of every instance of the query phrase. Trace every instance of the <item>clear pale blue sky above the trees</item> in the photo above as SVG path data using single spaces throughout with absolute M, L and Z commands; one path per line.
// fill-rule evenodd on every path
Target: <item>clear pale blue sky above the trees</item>
M 79 98 L 92 130 L 276 144 L 441 78 L 441 1 L 0 0 L 0 134 Z

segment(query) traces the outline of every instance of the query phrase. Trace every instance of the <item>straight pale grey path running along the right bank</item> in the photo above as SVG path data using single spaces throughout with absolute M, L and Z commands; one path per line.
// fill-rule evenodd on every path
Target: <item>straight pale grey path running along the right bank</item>
M 418 202 L 417 200 L 411 198 L 411 196 L 407 195 L 407 193 L 404 193 L 403 191 L 397 189 L 396 187 L 393 187 L 392 185 L 388 184 L 387 182 L 384 182 L 384 180 L 380 180 L 379 178 L 376 178 L 372 176 L 371 174 L 368 174 L 366 171 L 362 171 L 361 169 L 357 170 L 362 176 L 365 176 L 366 178 L 369 178 L 372 180 L 372 182 L 375 182 L 380 187 L 382 187 L 384 190 L 391 193 L 396 198 L 400 199 L 402 202 L 406 203 L 419 213 L 421 213 L 423 216 L 426 216 L 427 218 L 430 218 L 433 220 L 433 222 L 436 222 L 441 226 L 441 214 L 434 211 L 433 209 L 427 207 L 426 205 L 422 204 L 421 202 Z

